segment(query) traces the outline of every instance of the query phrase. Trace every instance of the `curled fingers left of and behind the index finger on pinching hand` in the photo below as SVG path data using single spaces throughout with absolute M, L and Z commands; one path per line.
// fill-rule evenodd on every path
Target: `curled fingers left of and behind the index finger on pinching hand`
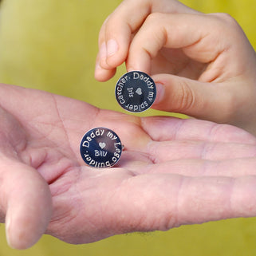
M 99 33 L 99 53 L 96 57 L 95 77 L 106 81 L 115 73 L 118 65 L 128 55 L 132 34 L 140 29 L 148 14 L 163 13 L 198 13 L 182 3 L 172 0 L 126 0 L 106 19 Z

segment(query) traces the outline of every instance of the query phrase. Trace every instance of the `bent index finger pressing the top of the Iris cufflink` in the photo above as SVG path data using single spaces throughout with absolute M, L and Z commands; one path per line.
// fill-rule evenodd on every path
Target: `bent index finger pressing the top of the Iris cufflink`
M 205 14 L 151 14 L 132 40 L 128 70 L 151 73 L 151 61 L 163 48 L 183 49 L 187 57 L 202 63 L 214 61 L 228 47 L 223 37 L 215 36 L 223 33 L 221 25 L 221 20 Z

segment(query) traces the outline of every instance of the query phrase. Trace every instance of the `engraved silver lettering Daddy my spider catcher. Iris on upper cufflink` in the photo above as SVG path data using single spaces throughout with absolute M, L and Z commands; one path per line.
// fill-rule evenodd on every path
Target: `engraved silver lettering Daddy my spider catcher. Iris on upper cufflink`
M 144 81 L 144 83 L 148 86 L 148 89 L 155 89 L 154 83 L 150 80 L 149 77 L 144 77 L 143 74 L 133 72 L 132 78 L 134 81 L 136 80 Z M 128 79 L 129 79 L 128 76 L 125 76 L 122 79 L 120 79 L 120 81 L 116 85 L 116 91 L 117 91 L 116 94 L 120 104 L 125 104 L 124 96 L 122 94 L 123 94 L 124 85 L 128 81 Z M 129 92 L 129 96 L 131 96 L 130 92 Z M 154 92 L 151 92 L 151 91 L 148 92 L 148 97 L 147 97 L 148 101 L 152 102 L 154 100 L 154 96 L 155 96 Z M 138 110 L 142 111 L 144 110 L 144 108 L 148 108 L 148 101 L 144 100 L 144 102 L 138 105 L 127 104 L 125 105 L 125 108 L 132 111 L 138 111 Z

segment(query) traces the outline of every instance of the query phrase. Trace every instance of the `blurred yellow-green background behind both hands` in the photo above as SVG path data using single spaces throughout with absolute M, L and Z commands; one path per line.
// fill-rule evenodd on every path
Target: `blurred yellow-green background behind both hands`
M 157 0 L 156 0 L 157 1 Z M 120 0 L 2 0 L 0 6 L 0 82 L 43 89 L 120 111 L 114 99 L 116 80 L 94 80 L 97 35 Z M 255 0 L 184 0 L 205 13 L 226 12 L 242 26 L 256 47 Z M 147 115 L 159 114 L 156 111 Z M 256 219 L 229 219 L 182 226 L 167 232 L 124 234 L 74 246 L 44 236 L 30 250 L 12 250 L 0 226 L 1 256 L 256 255 Z

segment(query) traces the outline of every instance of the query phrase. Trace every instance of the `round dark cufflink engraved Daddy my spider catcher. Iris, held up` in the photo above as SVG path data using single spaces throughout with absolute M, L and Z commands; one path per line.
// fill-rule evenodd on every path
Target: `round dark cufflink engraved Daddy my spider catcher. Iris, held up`
M 152 77 L 140 71 L 125 73 L 116 83 L 116 100 L 129 112 L 144 112 L 156 100 Z

